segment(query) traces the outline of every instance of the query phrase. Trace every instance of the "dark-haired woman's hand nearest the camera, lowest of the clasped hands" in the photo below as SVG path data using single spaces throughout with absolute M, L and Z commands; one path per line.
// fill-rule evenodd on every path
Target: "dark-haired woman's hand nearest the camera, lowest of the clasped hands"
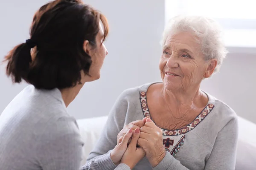
M 131 170 L 145 156 L 145 151 L 142 147 L 136 147 L 139 137 L 140 130 L 137 128 L 134 130 L 131 142 L 121 160 L 121 163 L 127 164 Z

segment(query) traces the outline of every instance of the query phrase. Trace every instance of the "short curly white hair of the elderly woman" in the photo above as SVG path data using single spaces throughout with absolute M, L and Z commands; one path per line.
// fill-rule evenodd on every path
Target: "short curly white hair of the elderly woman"
M 217 59 L 214 72 L 218 72 L 228 52 L 222 39 L 221 26 L 215 20 L 207 17 L 178 15 L 169 20 L 166 25 L 163 31 L 162 45 L 164 46 L 168 36 L 180 32 L 191 32 L 195 35 L 195 39 L 201 45 L 201 49 L 198 50 L 202 51 L 205 60 Z

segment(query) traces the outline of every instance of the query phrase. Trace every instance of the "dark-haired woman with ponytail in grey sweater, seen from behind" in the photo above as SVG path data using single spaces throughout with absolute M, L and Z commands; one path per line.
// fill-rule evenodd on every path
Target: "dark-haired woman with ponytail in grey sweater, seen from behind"
M 1 170 L 79 169 L 84 143 L 66 107 L 85 82 L 99 79 L 107 35 L 105 16 L 80 0 L 55 0 L 35 13 L 30 39 L 5 58 L 13 82 L 31 85 L 0 115 Z M 83 169 L 132 169 L 145 155 L 136 147 L 139 136 L 139 129 L 129 130 Z

